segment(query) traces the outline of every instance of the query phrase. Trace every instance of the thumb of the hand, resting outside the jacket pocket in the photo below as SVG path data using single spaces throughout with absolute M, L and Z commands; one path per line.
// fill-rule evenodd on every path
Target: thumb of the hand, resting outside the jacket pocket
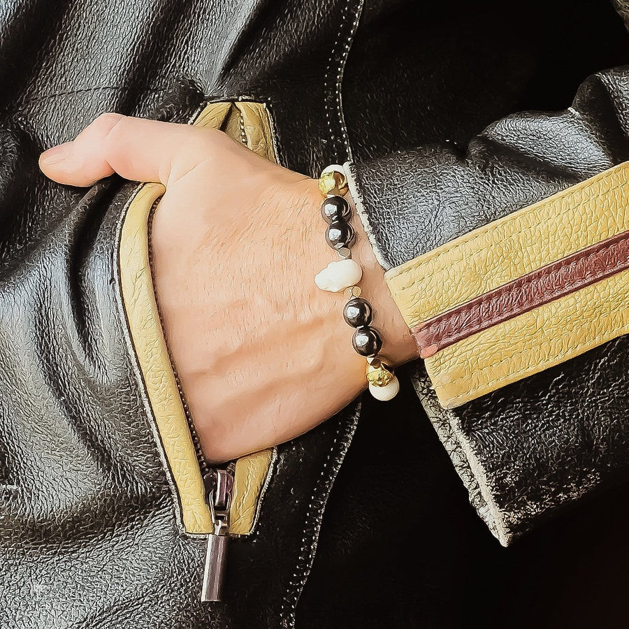
M 74 186 L 89 186 L 113 173 L 168 185 L 212 155 L 218 133 L 106 113 L 75 140 L 43 152 L 39 167 L 48 178 Z

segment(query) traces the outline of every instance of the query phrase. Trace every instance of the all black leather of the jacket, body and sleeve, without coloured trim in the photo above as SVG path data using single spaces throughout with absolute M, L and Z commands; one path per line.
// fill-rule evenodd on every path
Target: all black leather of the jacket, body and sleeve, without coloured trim
M 629 472 L 626 338 L 449 413 L 413 364 L 395 402 L 357 400 L 281 445 L 255 472 L 224 602 L 201 602 L 208 537 L 182 520 L 124 305 L 121 231 L 137 186 L 112 178 L 85 194 L 36 167 L 43 148 L 106 110 L 188 121 L 206 101 L 263 103 L 284 166 L 316 175 L 352 162 L 374 245 L 396 266 L 629 159 L 629 36 L 619 13 L 600 0 L 515 9 L 458 0 L 5 3 L 2 628 L 288 627 L 296 618 L 516 627 L 531 609 L 547 614 L 538 626 L 614 626 L 599 622 L 617 609 L 609 562 L 588 564 L 596 579 L 608 574 L 596 598 L 600 581 L 577 559 L 612 547 L 629 557 L 626 490 L 612 489 Z M 511 115 L 526 109 L 554 113 Z M 229 115 L 217 124 L 229 131 Z M 506 544 L 533 530 L 513 550 L 465 505 L 426 411 L 493 533 Z M 543 440 L 519 432 L 531 417 L 551 426 Z M 484 474 L 464 441 L 476 444 Z M 579 507 L 595 489 L 589 510 Z M 572 514 L 541 526 L 567 507 Z M 574 553 L 586 543 L 591 551 Z M 533 554 L 547 561 L 546 580 Z M 552 605 L 549 579 L 563 584 Z M 575 582 L 592 586 L 592 622 Z

